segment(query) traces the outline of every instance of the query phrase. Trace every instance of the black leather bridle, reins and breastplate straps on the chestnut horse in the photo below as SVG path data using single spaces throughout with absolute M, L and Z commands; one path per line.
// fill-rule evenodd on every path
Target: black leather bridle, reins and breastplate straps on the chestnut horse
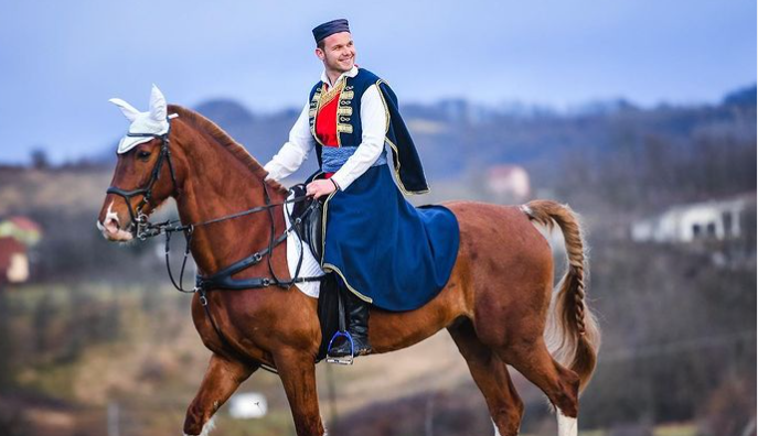
M 226 215 L 220 218 L 214 218 L 210 219 L 207 221 L 202 221 L 202 222 L 196 222 L 196 224 L 190 224 L 190 225 L 183 225 L 181 220 L 174 219 L 174 220 L 167 220 L 162 222 L 150 222 L 148 219 L 148 216 L 143 212 L 143 208 L 147 205 L 150 205 L 150 200 L 152 199 L 152 190 L 156 186 L 156 183 L 158 182 L 160 177 L 161 170 L 163 167 L 163 162 L 167 162 L 169 165 L 169 171 L 171 174 L 171 182 L 173 183 L 173 192 L 172 194 L 179 195 L 180 189 L 179 189 L 179 184 L 177 183 L 177 175 L 174 172 L 173 164 L 171 162 L 171 151 L 169 149 L 169 134 L 171 132 L 171 120 L 169 119 L 169 130 L 163 133 L 163 134 L 156 134 L 156 133 L 128 133 L 127 137 L 131 138 L 156 138 L 161 141 L 161 150 L 160 150 L 160 155 L 158 156 L 158 161 L 156 161 L 156 165 L 152 167 L 152 173 L 150 174 L 150 179 L 148 183 L 137 189 L 132 190 L 125 190 L 121 189 L 117 186 L 110 186 L 106 190 L 107 194 L 115 194 L 120 197 L 122 197 L 126 203 L 127 203 L 127 208 L 129 209 L 129 216 L 131 217 L 131 221 L 135 224 L 135 227 L 131 229 L 134 237 L 136 237 L 139 240 L 147 240 L 148 238 L 153 238 L 160 235 L 164 235 L 166 237 L 166 246 L 164 246 L 164 257 L 166 257 L 166 269 L 169 274 L 169 279 L 171 280 L 171 284 L 177 288 L 177 291 L 182 292 L 182 293 L 197 293 L 200 295 L 200 303 L 205 309 L 205 314 L 207 315 L 209 319 L 211 320 L 211 325 L 213 326 L 214 330 L 221 338 L 222 342 L 226 345 L 227 348 L 231 350 L 235 351 L 236 349 L 232 347 L 232 345 L 228 342 L 222 330 L 218 328 L 216 323 L 214 321 L 213 317 L 211 316 L 211 312 L 209 308 L 209 298 L 207 298 L 207 292 L 211 290 L 232 290 L 232 291 L 241 291 L 241 290 L 249 290 L 249 288 L 261 288 L 261 287 L 268 287 L 271 285 L 276 285 L 281 288 L 289 288 L 293 284 L 297 283 L 305 283 L 305 282 L 320 282 L 323 280 L 324 275 L 317 275 L 317 276 L 309 276 L 309 277 L 300 277 L 300 268 L 302 266 L 302 259 L 305 254 L 305 243 L 300 243 L 300 253 L 299 253 L 299 259 L 298 259 L 298 264 L 295 270 L 295 274 L 290 280 L 281 280 L 277 277 L 276 273 L 274 272 L 274 268 L 271 265 L 271 253 L 274 252 L 274 249 L 279 246 L 281 242 L 287 240 L 287 236 L 292 231 L 300 231 L 301 226 L 300 224 L 302 222 L 302 217 L 307 216 L 310 210 L 317 205 L 317 200 L 313 200 L 313 203 L 306 208 L 306 210 L 298 217 L 293 217 L 289 210 L 287 210 L 289 219 L 290 219 L 290 226 L 286 228 L 281 235 L 278 237 L 276 236 L 276 227 L 275 227 L 275 220 L 274 220 L 274 208 L 278 206 L 286 206 L 289 203 L 299 203 L 299 201 L 305 201 L 309 196 L 302 195 L 298 197 L 293 197 L 290 199 L 286 199 L 281 203 L 271 203 L 270 195 L 268 193 L 268 186 L 264 179 L 260 179 L 260 183 L 264 188 L 264 200 L 265 205 L 264 206 L 257 206 L 252 209 L 243 210 L 236 214 L 232 215 Z M 290 189 L 292 192 L 292 189 Z M 137 207 L 132 210 L 131 208 L 131 198 L 141 195 L 142 198 L 137 205 Z M 209 276 L 202 276 L 197 274 L 195 279 L 195 286 L 191 290 L 186 290 L 183 287 L 183 277 L 184 277 L 184 269 L 186 266 L 186 260 L 190 254 L 190 248 L 192 243 L 192 236 L 194 235 L 194 230 L 197 227 L 204 227 L 209 225 L 213 225 L 216 222 L 229 220 L 229 219 L 235 219 L 235 218 L 241 218 L 245 217 L 248 215 L 257 214 L 260 211 L 268 211 L 268 218 L 270 222 L 270 237 L 268 241 L 268 246 L 254 252 L 253 254 L 222 269 L 221 271 L 217 271 L 216 273 L 209 275 Z M 184 246 L 184 258 L 182 260 L 182 266 L 179 273 L 179 282 L 174 279 L 174 275 L 171 271 L 171 263 L 170 263 L 170 252 L 171 252 L 171 235 L 175 232 L 182 232 L 184 235 L 184 240 L 185 240 L 185 246 Z M 302 235 L 298 235 L 300 239 L 302 240 Z M 268 263 L 268 271 L 270 274 L 270 277 L 252 277 L 252 279 L 232 279 L 232 275 L 248 269 L 255 264 L 260 263 L 264 259 L 267 259 Z M 242 358 L 245 358 L 242 356 L 238 351 L 235 353 L 239 355 Z M 275 369 L 267 368 L 267 366 L 261 364 L 258 362 L 258 364 L 261 366 L 261 368 L 276 372 Z

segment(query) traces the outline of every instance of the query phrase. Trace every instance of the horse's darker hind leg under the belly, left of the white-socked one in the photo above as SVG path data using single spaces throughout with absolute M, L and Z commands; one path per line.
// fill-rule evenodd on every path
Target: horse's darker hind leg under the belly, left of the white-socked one
M 513 386 L 505 363 L 479 340 L 470 320 L 449 327 L 448 331 L 466 358 L 473 381 L 484 395 L 495 435 L 517 435 L 524 404 Z

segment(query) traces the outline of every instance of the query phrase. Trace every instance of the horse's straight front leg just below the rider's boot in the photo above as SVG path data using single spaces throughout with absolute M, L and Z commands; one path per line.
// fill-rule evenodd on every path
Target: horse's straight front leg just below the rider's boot
M 287 393 L 298 436 L 325 435 L 319 414 L 313 356 L 301 350 L 282 349 L 274 355 L 274 360 Z

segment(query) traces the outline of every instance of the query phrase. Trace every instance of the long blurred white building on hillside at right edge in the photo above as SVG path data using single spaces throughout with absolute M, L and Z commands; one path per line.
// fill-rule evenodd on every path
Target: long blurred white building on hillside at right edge
M 693 242 L 729 240 L 744 236 L 745 215 L 755 210 L 756 194 L 677 205 L 663 214 L 634 222 L 631 238 L 637 242 Z

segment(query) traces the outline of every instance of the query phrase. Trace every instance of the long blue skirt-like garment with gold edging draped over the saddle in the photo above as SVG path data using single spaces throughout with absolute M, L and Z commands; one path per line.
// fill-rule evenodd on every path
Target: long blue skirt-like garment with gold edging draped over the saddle
M 357 296 L 386 310 L 434 298 L 458 255 L 458 220 L 444 206 L 409 204 L 387 165 L 372 166 L 324 203 L 321 266 Z

